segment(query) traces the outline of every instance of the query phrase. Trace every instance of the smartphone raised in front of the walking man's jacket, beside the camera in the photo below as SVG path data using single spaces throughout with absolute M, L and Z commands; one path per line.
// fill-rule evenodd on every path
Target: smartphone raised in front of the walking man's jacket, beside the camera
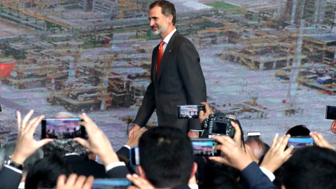
M 205 112 L 204 105 L 177 106 L 177 117 L 179 119 L 198 118 L 201 110 Z

